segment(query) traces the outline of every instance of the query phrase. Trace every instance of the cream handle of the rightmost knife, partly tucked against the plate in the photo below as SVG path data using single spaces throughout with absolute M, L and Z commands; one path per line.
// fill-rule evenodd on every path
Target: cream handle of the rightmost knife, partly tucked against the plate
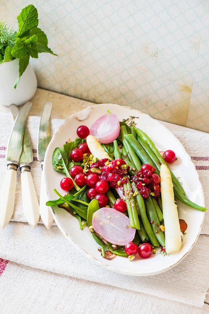
M 41 171 L 41 186 L 40 186 L 40 216 L 47 229 L 49 229 L 54 221 L 51 211 L 48 206 L 46 206 L 46 188 L 44 182 L 44 171 Z

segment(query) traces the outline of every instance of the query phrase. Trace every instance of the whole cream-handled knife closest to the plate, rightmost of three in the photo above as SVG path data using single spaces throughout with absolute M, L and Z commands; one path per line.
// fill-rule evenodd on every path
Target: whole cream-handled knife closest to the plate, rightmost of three
M 37 143 L 37 158 L 41 162 L 41 187 L 40 187 L 40 202 L 39 202 L 39 210 L 41 219 L 49 229 L 54 221 L 54 218 L 51 214 L 51 211 L 48 206 L 46 206 L 47 198 L 46 198 L 46 188 L 44 182 L 44 156 L 46 153 L 46 149 L 51 140 L 50 136 L 50 116 L 52 110 L 52 102 L 48 101 L 42 110 L 40 125 L 39 125 L 39 133 L 38 133 L 38 143 Z

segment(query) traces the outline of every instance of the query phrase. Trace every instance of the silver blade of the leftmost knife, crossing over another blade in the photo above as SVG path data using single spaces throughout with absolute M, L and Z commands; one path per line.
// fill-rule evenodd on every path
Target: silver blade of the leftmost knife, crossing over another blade
M 10 162 L 19 163 L 23 150 L 23 133 L 25 122 L 31 106 L 31 102 L 26 102 L 14 121 L 13 128 L 8 139 L 5 157 L 6 160 Z

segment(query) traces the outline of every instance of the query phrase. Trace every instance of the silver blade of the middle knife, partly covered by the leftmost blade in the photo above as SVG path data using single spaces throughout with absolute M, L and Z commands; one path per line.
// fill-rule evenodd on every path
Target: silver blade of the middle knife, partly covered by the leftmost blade
M 16 116 L 19 113 L 19 109 L 16 105 L 12 104 L 9 106 L 9 109 L 13 115 L 15 120 Z M 31 148 L 30 138 L 28 135 L 28 131 L 25 127 L 24 136 L 23 136 L 23 151 L 20 156 L 19 164 L 30 164 L 33 161 L 33 152 Z

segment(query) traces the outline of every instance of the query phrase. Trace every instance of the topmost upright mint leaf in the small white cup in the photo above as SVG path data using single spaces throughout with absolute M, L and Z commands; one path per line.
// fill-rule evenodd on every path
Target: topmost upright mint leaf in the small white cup
M 33 4 L 29 4 L 22 9 L 21 13 L 17 17 L 18 20 L 18 33 L 17 37 L 22 37 L 31 28 L 38 26 L 38 12 Z

